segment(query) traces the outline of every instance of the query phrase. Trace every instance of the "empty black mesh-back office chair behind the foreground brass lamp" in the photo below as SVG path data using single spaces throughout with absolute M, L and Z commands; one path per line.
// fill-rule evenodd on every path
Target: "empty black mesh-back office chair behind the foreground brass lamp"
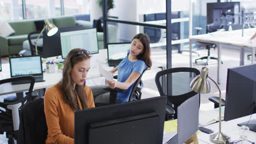
M 185 100 L 193 97 L 197 93 L 190 88 L 191 80 L 199 75 L 200 71 L 195 68 L 171 68 L 161 70 L 155 75 L 155 83 L 161 96 L 167 96 L 166 121 L 177 118 L 177 107 Z M 166 86 L 164 81 L 172 80 L 170 86 Z M 164 91 L 167 89 L 167 92 Z M 200 104 L 200 100 L 199 100 Z

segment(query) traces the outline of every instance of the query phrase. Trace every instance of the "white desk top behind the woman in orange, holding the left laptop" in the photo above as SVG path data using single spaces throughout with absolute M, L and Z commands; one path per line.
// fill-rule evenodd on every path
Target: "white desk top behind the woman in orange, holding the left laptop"
M 86 80 L 94 79 L 100 76 L 100 72 L 97 68 L 97 63 L 103 63 L 103 67 L 107 70 L 111 68 L 106 64 L 106 50 L 100 51 L 100 53 L 92 55 L 91 57 L 91 69 L 88 72 L 88 76 Z M 98 59 L 101 58 L 101 59 Z M 57 67 L 57 65 L 56 65 Z M 2 64 L 2 72 L 0 72 L 0 80 L 10 78 L 10 66 L 9 63 Z M 56 73 L 48 74 L 44 73 L 44 82 L 35 82 L 33 89 L 42 89 L 54 86 L 57 82 L 59 82 L 62 78 L 62 72 L 56 71 Z M 87 83 L 88 84 L 88 83 Z M 20 84 L 20 85 L 11 85 L 10 83 L 6 83 L 0 87 L 0 95 L 9 94 L 9 93 L 18 93 L 24 92 L 27 90 L 27 85 L 29 84 Z

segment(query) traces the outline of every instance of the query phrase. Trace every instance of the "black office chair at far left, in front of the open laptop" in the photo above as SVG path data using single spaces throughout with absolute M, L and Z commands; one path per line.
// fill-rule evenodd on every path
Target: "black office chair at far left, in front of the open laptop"
M 26 92 L 25 97 L 13 101 L 12 103 L 0 102 L 0 134 L 6 132 L 6 136 L 9 139 L 8 143 L 14 143 L 14 139 L 17 139 L 17 133 L 19 130 L 19 111 L 20 108 L 31 100 L 31 94 L 34 87 L 34 77 L 33 76 L 19 76 L 10 79 L 4 79 L 0 81 L 1 87 L 8 87 L 13 81 L 19 80 L 29 80 L 30 84 L 27 86 L 28 92 Z

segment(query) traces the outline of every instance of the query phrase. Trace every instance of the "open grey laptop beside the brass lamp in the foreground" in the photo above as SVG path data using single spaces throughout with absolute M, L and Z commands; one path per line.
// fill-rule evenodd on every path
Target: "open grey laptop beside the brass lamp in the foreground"
M 196 133 L 199 125 L 199 94 L 178 106 L 178 130 L 165 144 L 183 144 Z

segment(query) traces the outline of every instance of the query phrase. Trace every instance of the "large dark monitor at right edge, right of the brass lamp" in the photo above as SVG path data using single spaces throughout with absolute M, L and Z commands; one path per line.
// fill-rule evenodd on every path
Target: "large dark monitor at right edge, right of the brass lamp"
M 256 113 L 256 64 L 228 69 L 224 121 Z M 246 125 L 247 122 L 238 125 Z M 256 132 L 256 119 L 250 120 Z

